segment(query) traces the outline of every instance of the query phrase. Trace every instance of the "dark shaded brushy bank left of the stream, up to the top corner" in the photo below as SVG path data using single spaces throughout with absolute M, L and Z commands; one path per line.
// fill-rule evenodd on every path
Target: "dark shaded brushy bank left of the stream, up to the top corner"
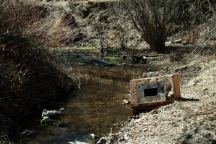
M 1 133 L 15 133 L 13 123 L 73 89 L 71 79 L 42 46 L 46 34 L 33 30 L 49 16 L 47 8 L 19 0 L 0 4 Z

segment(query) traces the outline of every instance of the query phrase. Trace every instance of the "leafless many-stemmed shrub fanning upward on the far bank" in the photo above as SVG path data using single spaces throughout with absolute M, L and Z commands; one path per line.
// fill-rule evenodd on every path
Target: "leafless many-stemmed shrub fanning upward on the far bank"
M 168 36 L 167 25 L 179 0 L 126 0 L 123 7 L 152 50 L 161 52 Z

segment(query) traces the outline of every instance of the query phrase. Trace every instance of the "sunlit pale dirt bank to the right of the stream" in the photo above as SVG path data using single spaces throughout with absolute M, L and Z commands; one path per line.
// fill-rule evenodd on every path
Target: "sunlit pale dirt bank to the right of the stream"
M 193 66 L 201 70 L 182 85 L 182 101 L 140 114 L 107 143 L 215 143 L 216 61 L 200 58 L 188 64 Z

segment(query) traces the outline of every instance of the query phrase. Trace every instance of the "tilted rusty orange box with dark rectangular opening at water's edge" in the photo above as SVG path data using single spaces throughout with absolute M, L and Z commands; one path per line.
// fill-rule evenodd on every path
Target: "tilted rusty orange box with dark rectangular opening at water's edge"
M 180 73 L 130 81 L 134 112 L 147 111 L 173 103 L 181 97 Z

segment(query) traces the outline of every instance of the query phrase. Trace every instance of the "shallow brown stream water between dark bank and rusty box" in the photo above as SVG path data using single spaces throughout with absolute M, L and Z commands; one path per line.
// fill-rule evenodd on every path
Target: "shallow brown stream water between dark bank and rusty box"
M 132 116 L 130 106 L 122 104 L 129 93 L 129 80 L 141 74 L 142 68 L 100 68 L 93 65 L 76 66 L 71 73 L 83 76 L 81 89 L 71 94 L 60 107 L 63 114 L 52 124 L 40 125 L 34 121 L 36 134 L 23 136 L 18 143 L 66 144 L 68 142 L 94 143 L 90 134 L 103 136 L 111 129 L 118 130 L 121 123 Z

